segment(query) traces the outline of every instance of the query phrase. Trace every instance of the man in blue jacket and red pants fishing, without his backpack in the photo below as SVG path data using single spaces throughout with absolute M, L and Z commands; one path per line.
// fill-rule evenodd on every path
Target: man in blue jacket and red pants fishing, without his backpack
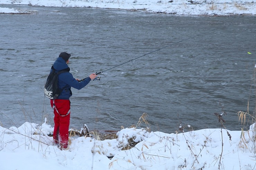
M 70 56 L 71 54 L 62 52 L 53 64 L 56 73 L 66 70 L 66 72 L 58 75 L 58 88 L 62 89 L 62 92 L 57 99 L 51 99 L 51 106 L 54 109 L 53 142 L 60 149 L 66 149 L 68 147 L 68 127 L 70 124 L 69 98 L 72 96 L 71 87 L 80 90 L 97 77 L 95 73 L 92 73 L 82 81 L 73 78 L 73 75 L 69 72 L 70 68 L 67 66 Z M 52 71 L 53 69 L 51 69 Z

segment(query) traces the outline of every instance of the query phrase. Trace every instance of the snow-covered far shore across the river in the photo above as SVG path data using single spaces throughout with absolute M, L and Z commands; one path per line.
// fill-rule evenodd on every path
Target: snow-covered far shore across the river
M 1 4 L 42 7 L 80 7 L 170 13 L 178 15 L 255 15 L 254 0 L 1 0 Z M 0 8 L 0 13 L 29 13 Z

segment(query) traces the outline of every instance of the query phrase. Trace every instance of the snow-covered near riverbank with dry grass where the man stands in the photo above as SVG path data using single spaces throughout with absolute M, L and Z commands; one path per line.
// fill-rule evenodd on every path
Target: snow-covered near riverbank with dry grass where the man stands
M 47 136 L 52 131 L 46 122 L 0 127 L 0 169 L 240 170 L 256 166 L 255 123 L 246 132 L 202 129 L 167 134 L 126 128 L 117 133 L 117 139 L 70 137 L 68 150 L 53 146 L 52 137 Z M 137 143 L 135 147 L 124 150 L 131 141 Z

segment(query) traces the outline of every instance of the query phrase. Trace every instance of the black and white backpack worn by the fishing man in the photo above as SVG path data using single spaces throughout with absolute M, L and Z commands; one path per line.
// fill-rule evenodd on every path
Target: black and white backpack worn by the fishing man
M 58 96 L 60 96 L 61 92 L 65 87 L 62 89 L 58 87 L 58 75 L 68 71 L 69 70 L 64 69 L 56 73 L 55 69 L 52 66 L 52 72 L 47 77 L 47 80 L 44 86 L 44 94 L 46 97 L 48 97 L 49 99 L 57 99 Z

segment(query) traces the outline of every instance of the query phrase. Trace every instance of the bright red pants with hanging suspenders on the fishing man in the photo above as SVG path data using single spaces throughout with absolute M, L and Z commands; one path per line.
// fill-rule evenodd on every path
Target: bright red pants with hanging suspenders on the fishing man
M 65 149 L 68 145 L 70 114 L 67 113 L 70 111 L 70 100 L 55 99 L 54 103 L 56 108 L 54 109 L 53 141 Z M 53 100 L 51 100 L 51 106 L 53 107 Z

